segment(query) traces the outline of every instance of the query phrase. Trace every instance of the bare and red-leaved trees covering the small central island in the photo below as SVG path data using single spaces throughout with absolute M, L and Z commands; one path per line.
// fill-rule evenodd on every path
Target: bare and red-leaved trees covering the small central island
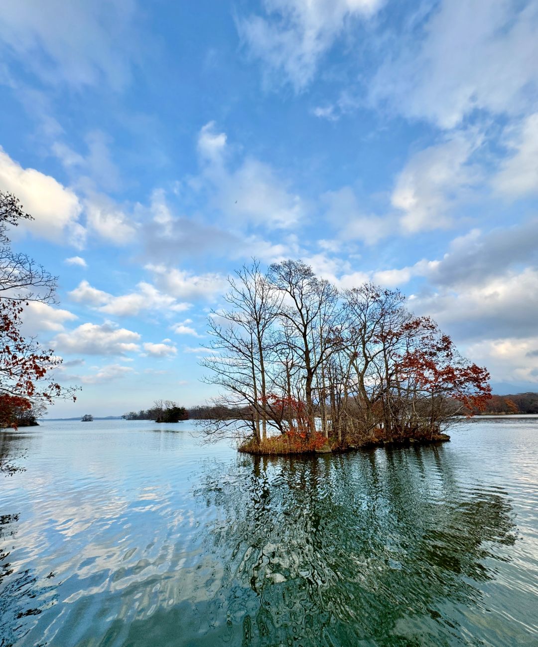
M 200 421 L 208 441 L 253 454 L 442 441 L 491 397 L 488 371 L 397 290 L 339 290 L 295 260 L 266 272 L 253 261 L 229 284 L 201 360 L 221 389 Z

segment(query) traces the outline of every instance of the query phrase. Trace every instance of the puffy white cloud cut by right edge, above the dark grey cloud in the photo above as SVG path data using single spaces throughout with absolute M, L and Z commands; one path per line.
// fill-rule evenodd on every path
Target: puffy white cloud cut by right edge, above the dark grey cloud
M 494 190 L 512 197 L 538 193 L 538 113 L 508 131 L 513 155 L 504 160 L 493 177 Z

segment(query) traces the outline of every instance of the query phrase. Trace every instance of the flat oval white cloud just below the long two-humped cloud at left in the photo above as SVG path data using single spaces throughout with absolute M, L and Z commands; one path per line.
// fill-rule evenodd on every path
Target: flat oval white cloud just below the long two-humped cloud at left
M 69 333 L 60 333 L 52 342 L 59 353 L 124 355 L 138 351 L 140 334 L 111 323 L 83 323 Z

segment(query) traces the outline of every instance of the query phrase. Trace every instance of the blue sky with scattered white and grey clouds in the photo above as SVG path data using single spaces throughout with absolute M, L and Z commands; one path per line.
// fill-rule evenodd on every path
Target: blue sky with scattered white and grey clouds
M 191 406 L 253 257 L 398 288 L 538 390 L 538 0 L 3 0 L 0 188 L 76 403 Z

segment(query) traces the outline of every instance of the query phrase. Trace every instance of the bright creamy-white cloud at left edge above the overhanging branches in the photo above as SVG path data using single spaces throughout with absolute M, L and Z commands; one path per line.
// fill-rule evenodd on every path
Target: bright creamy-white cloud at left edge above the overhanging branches
M 69 236 L 82 206 L 76 194 L 54 177 L 40 173 L 33 168 L 22 168 L 0 147 L 0 185 L 3 190 L 14 193 L 25 211 L 35 220 L 25 223 L 30 230 L 55 243 Z

